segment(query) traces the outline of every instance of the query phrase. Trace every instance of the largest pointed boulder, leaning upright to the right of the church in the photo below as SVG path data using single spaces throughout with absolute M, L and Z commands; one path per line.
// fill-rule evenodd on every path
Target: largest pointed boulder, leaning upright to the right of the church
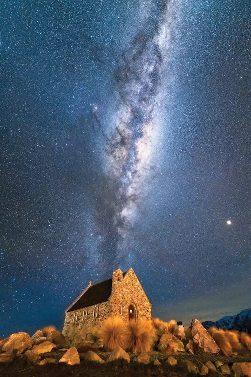
M 196 348 L 209 353 L 218 353 L 220 351 L 211 335 L 208 334 L 206 329 L 197 319 L 192 320 L 191 334 Z

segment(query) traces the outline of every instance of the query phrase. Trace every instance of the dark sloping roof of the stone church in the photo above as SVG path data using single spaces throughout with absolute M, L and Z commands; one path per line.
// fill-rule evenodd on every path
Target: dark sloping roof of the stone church
M 127 272 L 123 272 L 123 276 Z M 111 295 L 112 278 L 100 281 L 87 288 L 67 312 L 108 301 Z

